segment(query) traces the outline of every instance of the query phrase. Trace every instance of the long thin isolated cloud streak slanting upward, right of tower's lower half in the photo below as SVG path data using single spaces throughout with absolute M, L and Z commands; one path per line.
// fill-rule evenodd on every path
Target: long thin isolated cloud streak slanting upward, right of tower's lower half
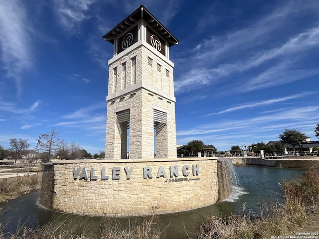
M 309 96 L 312 94 L 314 94 L 314 92 L 304 92 L 304 93 L 300 93 L 300 94 L 296 94 L 296 95 L 292 95 L 292 96 L 275 98 L 275 99 L 270 99 L 270 100 L 266 100 L 266 101 L 252 102 L 252 103 L 248 103 L 248 104 L 241 105 L 241 106 L 231 107 L 231 108 L 228 108 L 226 110 L 223 110 L 223 111 L 220 111 L 217 113 L 210 113 L 208 115 L 205 115 L 204 117 L 212 116 L 212 115 L 221 115 L 221 114 L 239 111 L 239 110 L 243 110 L 243 109 L 251 109 L 251 108 L 255 108 L 255 107 L 259 107 L 259 106 L 272 105 L 275 103 L 280 103 L 280 102 L 285 102 L 285 101 L 289 101 L 289 100 L 293 100 L 293 99 L 302 98 L 302 97 Z

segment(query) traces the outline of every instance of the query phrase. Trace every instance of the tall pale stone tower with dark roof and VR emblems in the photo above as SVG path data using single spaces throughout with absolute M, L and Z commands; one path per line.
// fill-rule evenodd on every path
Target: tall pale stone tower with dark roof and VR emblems
M 178 40 L 143 6 L 103 36 L 109 60 L 105 158 L 176 158 L 174 64 Z

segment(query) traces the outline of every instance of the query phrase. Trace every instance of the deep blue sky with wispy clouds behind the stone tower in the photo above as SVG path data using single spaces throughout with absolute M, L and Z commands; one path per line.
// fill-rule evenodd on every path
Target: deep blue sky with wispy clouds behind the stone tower
M 141 4 L 180 41 L 177 144 L 218 150 L 278 140 L 319 122 L 318 0 L 0 1 L 0 145 L 55 129 L 104 150 L 108 60 L 102 36 Z M 317 139 L 318 140 L 318 139 Z

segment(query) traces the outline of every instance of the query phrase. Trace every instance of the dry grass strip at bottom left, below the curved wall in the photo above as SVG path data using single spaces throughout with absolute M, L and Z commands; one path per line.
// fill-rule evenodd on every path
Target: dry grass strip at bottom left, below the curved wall
M 107 218 L 102 219 L 100 225 L 89 218 L 71 218 L 48 223 L 36 230 L 27 229 L 19 222 L 14 234 L 0 235 L 0 239 L 160 239 L 163 231 L 156 219 L 154 215 L 142 221 L 133 220 L 126 229 Z

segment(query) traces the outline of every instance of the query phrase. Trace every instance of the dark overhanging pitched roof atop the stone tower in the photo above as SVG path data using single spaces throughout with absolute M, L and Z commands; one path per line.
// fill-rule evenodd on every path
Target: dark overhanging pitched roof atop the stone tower
M 106 33 L 103 36 L 103 39 L 114 44 L 114 40 L 117 36 L 119 36 L 127 28 L 134 25 L 135 22 L 141 18 L 145 19 L 145 21 L 152 26 L 160 36 L 167 40 L 169 47 L 179 42 L 143 5 L 121 21 L 116 27 Z

